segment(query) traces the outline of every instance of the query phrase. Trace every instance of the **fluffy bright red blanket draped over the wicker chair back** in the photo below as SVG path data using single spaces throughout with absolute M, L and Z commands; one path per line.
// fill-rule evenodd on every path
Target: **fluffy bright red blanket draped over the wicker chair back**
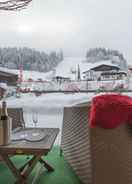
M 132 123 L 132 98 L 125 95 L 105 94 L 92 100 L 90 127 L 115 128 Z

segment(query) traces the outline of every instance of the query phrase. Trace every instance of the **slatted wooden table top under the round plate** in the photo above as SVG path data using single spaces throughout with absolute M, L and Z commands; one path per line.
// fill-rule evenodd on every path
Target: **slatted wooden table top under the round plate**
M 26 128 L 24 131 L 34 130 L 33 128 Z M 34 153 L 48 153 L 59 133 L 59 128 L 37 128 L 44 132 L 46 137 L 42 141 L 12 141 L 9 145 L 0 146 L 0 153 L 8 154 L 34 154 Z M 23 130 L 19 130 L 23 131 Z

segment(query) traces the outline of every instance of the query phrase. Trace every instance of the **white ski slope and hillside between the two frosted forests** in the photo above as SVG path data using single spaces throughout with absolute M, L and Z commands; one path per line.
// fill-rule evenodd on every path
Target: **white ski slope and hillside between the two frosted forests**
M 93 68 L 100 64 L 110 64 L 115 66 L 115 64 L 112 64 L 110 60 L 100 61 L 92 64 L 85 62 L 85 58 L 66 57 L 62 62 L 58 64 L 58 66 L 55 68 L 55 71 L 50 71 L 47 73 L 37 71 L 23 71 L 23 78 L 24 80 L 27 80 L 29 78 L 32 78 L 33 80 L 37 80 L 40 78 L 43 80 L 51 80 L 52 77 L 54 76 L 63 76 L 75 80 L 76 79 L 75 71 L 77 71 L 78 65 L 82 76 L 82 73 L 84 71 L 87 71 L 90 68 Z M 20 73 L 19 70 L 7 69 L 2 67 L 0 67 L 0 70 L 15 73 L 18 75 Z

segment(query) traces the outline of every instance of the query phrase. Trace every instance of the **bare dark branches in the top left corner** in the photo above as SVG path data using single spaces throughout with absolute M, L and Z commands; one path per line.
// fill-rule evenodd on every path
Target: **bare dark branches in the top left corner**
M 15 11 L 26 8 L 32 0 L 0 0 L 0 10 Z

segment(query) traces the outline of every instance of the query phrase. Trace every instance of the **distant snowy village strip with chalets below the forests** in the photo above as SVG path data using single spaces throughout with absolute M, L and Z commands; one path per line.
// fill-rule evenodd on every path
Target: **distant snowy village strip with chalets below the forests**
M 7 71 L 0 69 L 0 96 L 6 93 L 13 95 L 32 91 L 40 93 L 44 91 L 79 92 L 81 90 L 130 89 L 131 75 L 132 66 L 128 65 L 127 70 L 121 70 L 110 60 L 91 65 L 77 64 L 76 70 L 71 68 L 67 75 L 53 70 L 52 75 L 47 79 L 38 76 L 37 79 L 30 77 L 25 80 L 22 68 L 17 74 L 9 69 Z

